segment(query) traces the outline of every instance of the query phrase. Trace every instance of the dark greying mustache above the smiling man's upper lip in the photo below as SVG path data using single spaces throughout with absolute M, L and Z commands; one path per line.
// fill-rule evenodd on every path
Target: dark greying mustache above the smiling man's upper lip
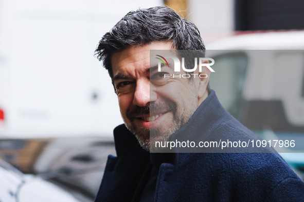
M 145 107 L 139 107 L 137 105 L 133 106 L 132 108 L 129 108 L 127 110 L 127 118 L 129 120 L 133 120 L 135 117 L 140 115 L 147 115 L 152 113 L 165 113 L 167 111 L 175 111 L 176 105 L 173 102 L 150 102 Z

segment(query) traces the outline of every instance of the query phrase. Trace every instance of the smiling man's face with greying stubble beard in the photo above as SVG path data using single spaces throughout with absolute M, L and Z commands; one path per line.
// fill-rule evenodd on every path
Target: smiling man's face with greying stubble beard
M 172 43 L 155 42 L 130 46 L 111 57 L 122 118 L 146 150 L 150 149 L 150 140 L 168 140 L 187 123 L 207 96 L 206 80 L 199 77 L 164 79 L 161 72 L 150 67 L 150 50 L 171 48 Z

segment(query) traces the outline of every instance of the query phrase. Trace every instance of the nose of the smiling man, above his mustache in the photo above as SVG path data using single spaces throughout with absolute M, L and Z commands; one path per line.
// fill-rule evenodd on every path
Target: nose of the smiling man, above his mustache
M 154 98 L 153 93 L 150 91 L 150 81 L 137 80 L 133 104 L 139 107 L 145 107 L 151 101 L 150 98 Z

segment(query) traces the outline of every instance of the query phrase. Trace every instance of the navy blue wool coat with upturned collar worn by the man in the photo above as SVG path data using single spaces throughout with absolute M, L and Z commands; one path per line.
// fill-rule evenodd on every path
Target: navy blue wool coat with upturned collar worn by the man
M 171 137 L 185 134 L 259 138 L 226 112 L 214 91 Z M 114 129 L 114 140 L 117 157 L 108 158 L 97 202 L 131 201 L 150 160 L 124 125 Z M 277 153 L 175 153 L 173 158 L 160 166 L 154 201 L 304 201 L 303 181 Z

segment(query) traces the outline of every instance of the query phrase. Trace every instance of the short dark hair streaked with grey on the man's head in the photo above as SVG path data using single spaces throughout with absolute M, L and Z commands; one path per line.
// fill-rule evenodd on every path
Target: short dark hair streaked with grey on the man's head
M 173 42 L 172 48 L 176 50 L 201 50 L 205 55 L 199 29 L 169 7 L 152 7 L 129 12 L 103 35 L 95 55 L 103 61 L 103 66 L 113 78 L 111 55 L 114 52 L 130 45 L 170 41 Z

